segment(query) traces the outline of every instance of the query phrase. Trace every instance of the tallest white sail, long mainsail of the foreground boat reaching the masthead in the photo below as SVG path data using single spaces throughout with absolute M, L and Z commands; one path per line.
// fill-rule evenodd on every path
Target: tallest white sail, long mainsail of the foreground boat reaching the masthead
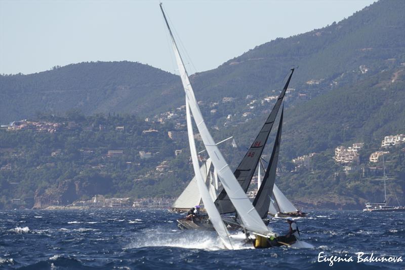
M 204 118 L 197 104 L 197 100 L 195 99 L 190 80 L 188 79 L 186 68 L 180 56 L 179 50 L 177 48 L 176 42 L 174 40 L 172 31 L 169 27 L 169 23 L 166 20 L 166 15 L 164 12 L 163 15 L 165 17 L 165 21 L 172 39 L 173 50 L 175 53 L 177 66 L 179 67 L 181 82 L 186 93 L 186 99 L 193 114 L 199 134 L 201 135 L 201 139 L 203 139 L 204 146 L 207 149 L 207 153 L 210 156 L 214 167 L 217 169 L 219 180 L 222 182 L 222 185 L 224 186 L 226 193 L 229 196 L 229 199 L 231 200 L 233 206 L 235 207 L 238 216 L 240 217 L 241 222 L 245 226 L 245 228 L 251 230 L 254 233 L 263 235 L 274 235 L 272 232 L 270 232 L 270 230 L 264 224 L 263 220 L 260 218 L 255 207 L 249 200 L 245 191 L 237 182 L 235 176 L 233 175 L 233 172 L 229 168 L 229 165 L 226 163 L 221 151 L 218 149 L 214 139 L 212 138 L 207 125 L 204 122 Z

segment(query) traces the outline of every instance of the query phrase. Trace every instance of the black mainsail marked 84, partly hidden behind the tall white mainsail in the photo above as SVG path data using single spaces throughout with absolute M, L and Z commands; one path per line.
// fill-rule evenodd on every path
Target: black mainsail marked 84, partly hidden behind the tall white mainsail
M 291 69 L 291 74 L 287 80 L 284 89 L 281 91 L 276 103 L 273 106 L 266 122 L 264 123 L 262 129 L 257 135 L 256 139 L 253 141 L 251 147 L 246 152 L 245 157 L 240 162 L 239 166 L 233 172 L 233 175 L 239 182 L 242 189 L 246 192 L 248 191 L 250 182 L 252 181 L 253 174 L 256 171 L 257 164 L 259 163 L 260 157 L 262 155 L 264 146 L 266 145 L 267 139 L 269 137 L 271 128 L 273 127 L 274 121 L 276 119 L 278 110 L 280 109 L 282 99 L 284 98 L 288 85 L 290 84 L 291 77 L 293 76 L 294 68 Z M 222 189 L 218 195 L 215 205 L 221 214 L 235 212 L 225 189 Z

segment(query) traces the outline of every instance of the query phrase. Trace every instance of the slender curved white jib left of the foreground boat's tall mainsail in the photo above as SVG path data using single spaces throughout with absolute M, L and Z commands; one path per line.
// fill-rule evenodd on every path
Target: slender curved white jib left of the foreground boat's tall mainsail
M 194 174 L 197 179 L 197 185 L 199 193 L 201 195 L 201 199 L 203 200 L 204 207 L 207 211 L 208 216 L 210 217 L 211 223 L 213 224 L 223 244 L 227 249 L 233 249 L 232 243 L 229 239 L 228 230 L 226 229 L 225 224 L 222 221 L 218 209 L 215 207 L 214 201 L 211 199 L 210 192 L 208 191 L 207 185 L 205 183 L 205 179 L 203 179 L 203 176 L 201 175 L 199 170 L 197 150 L 195 149 L 195 142 L 194 142 L 193 126 L 191 122 L 190 109 L 187 99 L 186 99 L 186 118 L 187 118 L 187 134 L 188 134 L 188 142 L 190 144 L 191 160 L 193 163 Z

